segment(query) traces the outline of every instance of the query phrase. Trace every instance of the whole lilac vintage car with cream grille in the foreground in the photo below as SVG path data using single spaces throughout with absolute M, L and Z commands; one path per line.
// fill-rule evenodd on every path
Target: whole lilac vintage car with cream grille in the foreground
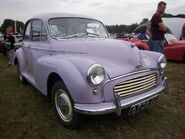
M 62 124 L 82 114 L 148 108 L 165 89 L 163 54 L 113 40 L 102 22 L 81 15 L 44 14 L 27 21 L 15 53 L 20 80 L 51 97 Z

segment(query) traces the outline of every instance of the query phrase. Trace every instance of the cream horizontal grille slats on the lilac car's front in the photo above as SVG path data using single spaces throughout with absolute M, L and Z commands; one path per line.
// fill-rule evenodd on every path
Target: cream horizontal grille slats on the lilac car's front
M 120 82 L 114 86 L 114 93 L 120 95 L 120 97 L 126 97 L 145 91 L 156 85 L 157 76 L 155 73 L 133 78 Z

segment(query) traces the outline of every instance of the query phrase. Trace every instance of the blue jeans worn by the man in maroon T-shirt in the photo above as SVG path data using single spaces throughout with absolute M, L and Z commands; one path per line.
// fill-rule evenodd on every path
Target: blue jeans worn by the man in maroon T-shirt
M 152 40 L 148 41 L 148 45 L 151 51 L 163 53 L 165 40 Z

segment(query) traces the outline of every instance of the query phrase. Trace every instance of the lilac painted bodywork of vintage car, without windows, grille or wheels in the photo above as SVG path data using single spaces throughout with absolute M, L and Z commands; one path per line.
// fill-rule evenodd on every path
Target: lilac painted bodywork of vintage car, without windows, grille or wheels
M 109 38 L 56 39 L 48 29 L 48 20 L 56 17 L 90 19 L 70 14 L 40 15 L 32 19 L 43 21 L 47 40 L 24 40 L 23 46 L 15 53 L 15 59 L 20 64 L 21 75 L 41 93 L 49 93 L 48 79 L 55 73 L 64 81 L 77 112 L 104 114 L 116 112 L 120 107 L 126 108 L 164 90 L 165 78 L 158 68 L 160 53 L 139 51 L 129 42 Z M 86 77 L 93 64 L 100 64 L 106 72 L 104 81 L 95 87 L 89 85 Z M 115 97 L 115 84 L 151 73 L 157 75 L 156 86 L 137 95 L 119 98 L 121 100 Z M 94 89 L 97 89 L 96 94 Z

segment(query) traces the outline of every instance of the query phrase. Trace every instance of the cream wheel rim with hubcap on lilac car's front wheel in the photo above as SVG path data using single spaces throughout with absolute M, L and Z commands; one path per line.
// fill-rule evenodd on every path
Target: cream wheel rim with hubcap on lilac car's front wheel
M 59 89 L 55 93 L 55 106 L 62 120 L 69 122 L 72 119 L 71 101 L 63 89 Z

